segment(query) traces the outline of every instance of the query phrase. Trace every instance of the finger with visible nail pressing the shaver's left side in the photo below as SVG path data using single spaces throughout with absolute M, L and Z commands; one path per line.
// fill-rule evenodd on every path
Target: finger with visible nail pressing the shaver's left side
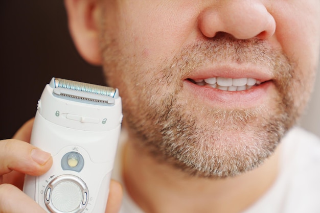
M 29 175 L 40 175 L 48 171 L 52 157 L 24 141 L 7 139 L 0 141 L 0 175 L 12 170 Z

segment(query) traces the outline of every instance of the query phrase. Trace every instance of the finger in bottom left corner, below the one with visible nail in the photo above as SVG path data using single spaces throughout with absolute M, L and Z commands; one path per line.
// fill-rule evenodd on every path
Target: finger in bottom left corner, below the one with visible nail
M 17 187 L 10 184 L 0 185 L 0 212 L 46 213 L 30 197 L 22 193 Z

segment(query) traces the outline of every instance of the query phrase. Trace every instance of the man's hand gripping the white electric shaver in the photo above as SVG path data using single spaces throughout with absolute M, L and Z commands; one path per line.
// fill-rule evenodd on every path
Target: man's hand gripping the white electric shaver
M 33 119 L 22 126 L 12 139 L 0 140 L 0 213 L 46 213 L 21 190 L 25 174 L 41 175 L 53 162 L 50 153 L 26 143 L 30 141 Z M 111 180 L 105 213 L 117 213 L 122 199 L 121 185 Z

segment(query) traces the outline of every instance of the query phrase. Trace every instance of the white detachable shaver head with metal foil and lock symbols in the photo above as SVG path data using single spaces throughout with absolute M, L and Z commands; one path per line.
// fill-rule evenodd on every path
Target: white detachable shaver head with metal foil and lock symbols
M 78 130 L 108 131 L 122 121 L 118 89 L 60 78 L 45 86 L 37 111 L 47 121 Z

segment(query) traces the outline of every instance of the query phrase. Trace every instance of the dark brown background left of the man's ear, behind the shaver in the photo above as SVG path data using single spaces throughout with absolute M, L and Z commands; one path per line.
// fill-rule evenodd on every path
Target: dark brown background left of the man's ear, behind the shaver
M 0 70 L 0 139 L 35 115 L 52 77 L 104 84 L 101 68 L 78 55 L 62 0 L 0 1 Z

